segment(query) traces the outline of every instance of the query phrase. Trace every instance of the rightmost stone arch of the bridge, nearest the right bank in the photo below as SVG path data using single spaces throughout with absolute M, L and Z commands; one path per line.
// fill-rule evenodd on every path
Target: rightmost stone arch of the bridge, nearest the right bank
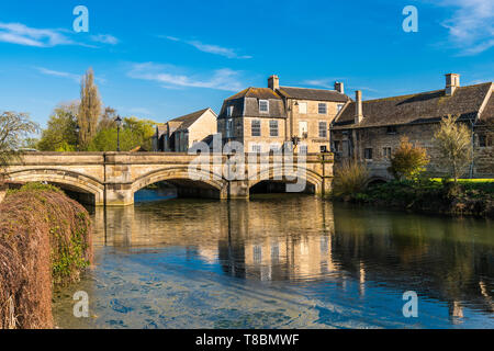
M 303 168 L 303 167 L 287 167 L 287 166 L 278 166 L 278 167 L 269 167 L 268 169 L 260 170 L 259 172 L 249 177 L 249 189 L 255 186 L 256 184 L 262 181 L 270 181 L 282 179 L 284 177 L 288 178 L 302 178 L 305 182 L 312 184 L 314 186 L 314 193 L 321 193 L 323 188 L 323 177 L 317 174 L 316 172 Z

